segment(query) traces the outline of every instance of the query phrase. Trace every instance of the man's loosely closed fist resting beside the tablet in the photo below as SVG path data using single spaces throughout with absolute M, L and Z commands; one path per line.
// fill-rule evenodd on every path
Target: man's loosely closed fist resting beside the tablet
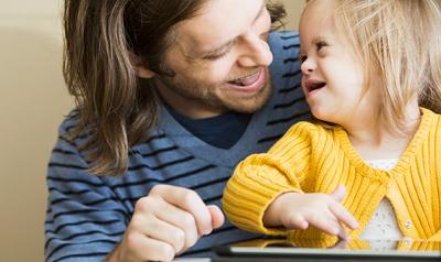
M 220 209 L 195 192 L 158 185 L 137 201 L 122 241 L 106 261 L 172 261 L 223 223 Z

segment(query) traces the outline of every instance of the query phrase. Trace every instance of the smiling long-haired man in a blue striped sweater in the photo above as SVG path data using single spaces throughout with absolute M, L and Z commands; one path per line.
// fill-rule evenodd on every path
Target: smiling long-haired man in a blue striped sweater
M 238 161 L 309 116 L 298 35 L 269 33 L 283 14 L 265 0 L 66 0 L 78 107 L 49 164 L 46 261 L 170 261 L 258 238 L 219 203 Z

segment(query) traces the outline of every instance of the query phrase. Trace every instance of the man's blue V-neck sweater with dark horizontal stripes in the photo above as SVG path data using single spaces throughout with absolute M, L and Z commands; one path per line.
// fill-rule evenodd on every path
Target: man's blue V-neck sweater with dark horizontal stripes
M 66 118 L 49 163 L 45 260 L 101 261 L 121 240 L 136 201 L 158 184 L 194 189 L 206 204 L 220 207 L 235 165 L 251 153 L 266 152 L 293 122 L 309 118 L 300 87 L 299 35 L 272 32 L 269 44 L 273 94 L 228 150 L 194 138 L 161 108 L 158 129 L 131 149 L 128 172 L 120 177 L 97 177 L 87 173 L 88 165 L 78 151 L 87 138 L 65 139 L 75 125 Z M 209 256 L 213 245 L 257 237 L 226 221 L 183 256 Z

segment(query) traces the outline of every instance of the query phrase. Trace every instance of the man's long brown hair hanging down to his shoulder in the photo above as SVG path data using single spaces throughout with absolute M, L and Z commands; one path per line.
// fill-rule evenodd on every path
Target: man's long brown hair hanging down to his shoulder
M 191 19 L 206 0 L 65 0 L 63 73 L 77 105 L 68 138 L 87 133 L 85 151 L 94 175 L 121 175 L 129 149 L 158 123 L 152 80 L 137 77 L 133 61 L 170 75 L 163 54 L 174 26 Z M 273 26 L 286 15 L 268 1 Z

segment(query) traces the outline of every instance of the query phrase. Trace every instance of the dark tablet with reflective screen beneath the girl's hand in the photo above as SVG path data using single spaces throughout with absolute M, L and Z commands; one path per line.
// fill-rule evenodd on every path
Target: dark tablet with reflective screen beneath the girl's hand
M 213 261 L 441 261 L 441 242 L 438 241 L 384 241 L 385 248 L 380 242 L 352 240 L 331 248 L 299 248 L 284 239 L 252 240 L 215 247 L 218 256 Z M 230 260 L 225 260 L 228 258 Z

